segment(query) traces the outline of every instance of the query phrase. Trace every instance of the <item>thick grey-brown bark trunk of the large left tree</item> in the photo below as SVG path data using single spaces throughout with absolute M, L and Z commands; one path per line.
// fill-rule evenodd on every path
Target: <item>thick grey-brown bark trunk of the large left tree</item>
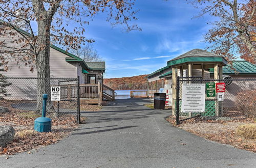
M 38 54 L 36 58 L 37 70 L 37 107 L 36 113 L 40 114 L 42 109 L 42 95 L 48 94 L 47 112 L 54 110 L 51 102 L 51 81 L 50 81 L 50 21 L 42 19 L 38 21 Z

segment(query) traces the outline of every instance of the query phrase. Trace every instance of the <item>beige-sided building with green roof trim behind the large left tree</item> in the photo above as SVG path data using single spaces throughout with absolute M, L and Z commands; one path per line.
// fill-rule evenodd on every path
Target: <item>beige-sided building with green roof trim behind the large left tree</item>
M 0 26 L 5 28 L 8 25 L 3 20 L 0 20 Z M 29 33 L 17 29 L 19 33 L 24 36 L 31 36 Z M 22 44 L 16 44 L 15 39 L 20 38 L 11 35 L 11 29 L 5 35 L 1 34 L 0 41 L 5 41 L 10 47 L 19 48 Z M 10 55 L 4 55 L 5 61 L 8 62 L 8 70 L 3 72 L 3 75 L 9 77 L 36 77 L 36 67 L 32 62 L 31 64 L 17 61 L 17 58 Z M 33 67 L 33 70 L 31 70 Z M 103 73 L 105 72 L 105 62 L 84 62 L 76 55 L 67 52 L 55 45 L 50 45 L 50 76 L 52 78 L 76 78 L 80 77 L 80 83 L 97 83 L 103 80 Z M 103 82 L 103 81 L 102 81 Z

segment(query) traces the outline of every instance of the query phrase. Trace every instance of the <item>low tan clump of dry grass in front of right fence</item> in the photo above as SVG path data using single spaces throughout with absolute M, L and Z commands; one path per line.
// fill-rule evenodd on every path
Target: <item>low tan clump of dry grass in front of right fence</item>
M 237 128 L 237 134 L 247 139 L 256 138 L 256 124 L 245 124 Z

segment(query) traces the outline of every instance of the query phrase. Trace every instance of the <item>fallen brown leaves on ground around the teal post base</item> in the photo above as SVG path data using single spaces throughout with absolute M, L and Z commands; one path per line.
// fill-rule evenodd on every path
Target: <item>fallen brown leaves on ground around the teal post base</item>
M 0 106 L 10 109 L 9 113 L 0 114 L 0 124 L 11 125 L 16 132 L 12 142 L 7 144 L 5 148 L 0 147 L 0 155 L 13 155 L 25 151 L 30 154 L 29 150 L 55 144 L 78 127 L 75 115 L 62 115 L 59 118 L 51 117 L 52 132 L 35 132 L 33 131 L 34 120 L 38 115 L 35 115 L 33 111 L 13 108 L 13 103 L 17 102 L 0 101 Z

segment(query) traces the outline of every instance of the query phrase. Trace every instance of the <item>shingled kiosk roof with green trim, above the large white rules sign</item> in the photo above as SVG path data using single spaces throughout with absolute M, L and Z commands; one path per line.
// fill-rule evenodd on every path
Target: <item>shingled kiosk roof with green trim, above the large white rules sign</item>
M 189 62 L 221 62 L 223 65 L 227 65 L 227 61 L 221 55 L 202 49 L 193 49 L 168 61 L 167 66 L 174 66 Z

